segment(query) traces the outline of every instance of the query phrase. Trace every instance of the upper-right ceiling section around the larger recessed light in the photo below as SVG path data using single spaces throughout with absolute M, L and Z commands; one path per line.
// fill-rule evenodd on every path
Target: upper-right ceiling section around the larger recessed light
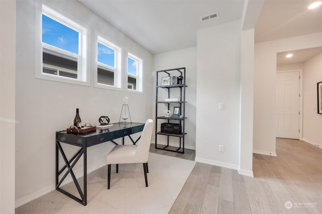
M 322 7 L 316 0 L 265 0 L 255 27 L 255 43 L 322 32 Z

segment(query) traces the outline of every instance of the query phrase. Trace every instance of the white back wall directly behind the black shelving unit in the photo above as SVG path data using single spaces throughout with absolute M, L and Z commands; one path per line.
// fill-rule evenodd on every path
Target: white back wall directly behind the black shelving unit
M 196 149 L 196 73 L 197 73 L 197 47 L 186 48 L 177 51 L 156 54 L 153 56 L 153 86 L 156 85 L 157 70 L 186 67 L 186 126 L 185 132 L 188 133 L 185 138 L 185 148 Z M 161 93 L 162 91 L 159 90 Z M 155 90 L 154 98 L 155 100 Z M 160 104 L 159 104 L 160 106 Z M 163 111 L 159 111 L 158 116 L 163 116 Z M 172 112 L 172 110 L 170 110 Z M 155 117 L 155 108 L 153 109 L 153 118 Z M 164 121 L 165 122 L 165 121 Z M 164 123 L 158 121 L 158 124 Z M 155 136 L 153 136 L 153 139 Z M 158 136 L 158 144 L 166 144 L 165 138 Z M 170 138 L 171 146 L 179 146 L 177 138 Z

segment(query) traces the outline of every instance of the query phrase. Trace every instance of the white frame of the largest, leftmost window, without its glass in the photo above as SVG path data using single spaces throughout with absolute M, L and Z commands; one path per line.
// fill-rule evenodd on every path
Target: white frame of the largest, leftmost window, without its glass
M 87 59 L 87 38 L 88 30 L 75 21 L 74 18 L 66 15 L 64 12 L 57 10 L 54 7 L 48 7 L 45 4 L 39 3 L 39 10 L 36 10 L 36 65 L 35 77 L 39 79 L 46 79 L 52 81 L 59 81 L 72 84 L 90 85 L 90 76 L 87 72 L 88 59 Z M 78 32 L 78 54 L 66 51 L 56 46 L 42 42 L 42 15 L 49 17 L 50 19 L 59 22 L 62 25 Z M 38 19 L 37 19 L 38 17 Z M 77 78 L 59 76 L 57 74 L 49 74 L 43 72 L 43 66 L 55 69 L 57 66 L 48 65 L 43 63 L 43 52 L 56 55 L 65 59 L 73 60 L 77 59 Z M 63 68 L 63 67 L 62 67 Z M 70 72 L 69 69 L 63 68 L 64 72 Z

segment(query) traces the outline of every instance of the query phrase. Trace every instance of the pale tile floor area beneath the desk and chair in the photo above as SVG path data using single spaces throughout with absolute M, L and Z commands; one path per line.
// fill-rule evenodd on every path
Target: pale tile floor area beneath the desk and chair
M 107 167 L 88 174 L 88 204 L 83 206 L 54 190 L 16 208 L 16 213 L 168 213 L 195 166 L 194 161 L 149 154 L 148 187 L 142 164 L 112 166 L 111 188 Z M 79 179 L 82 186 L 82 179 Z M 63 187 L 77 193 L 72 183 Z

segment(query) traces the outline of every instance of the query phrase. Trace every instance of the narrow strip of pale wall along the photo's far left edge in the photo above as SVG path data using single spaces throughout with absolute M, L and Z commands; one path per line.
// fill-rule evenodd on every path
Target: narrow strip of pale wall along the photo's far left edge
M 0 1 L 0 213 L 15 213 L 16 1 Z

